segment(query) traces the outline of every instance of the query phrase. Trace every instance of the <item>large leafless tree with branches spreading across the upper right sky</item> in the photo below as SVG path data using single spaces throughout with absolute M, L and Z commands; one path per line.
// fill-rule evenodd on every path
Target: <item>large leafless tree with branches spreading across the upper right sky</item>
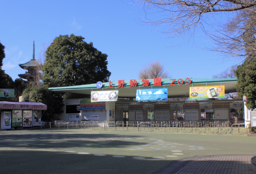
M 255 57 L 255 44 L 251 44 L 255 43 L 254 0 L 132 0 L 132 4 L 141 5 L 145 13 L 142 22 L 165 28 L 161 32 L 173 41 L 182 37 L 184 42 L 194 43 L 193 38 L 201 31 L 216 44 L 206 49 L 219 52 L 225 60 L 242 62 L 248 55 Z M 150 20 L 152 14 L 154 21 Z M 248 48 L 253 53 L 246 51 Z

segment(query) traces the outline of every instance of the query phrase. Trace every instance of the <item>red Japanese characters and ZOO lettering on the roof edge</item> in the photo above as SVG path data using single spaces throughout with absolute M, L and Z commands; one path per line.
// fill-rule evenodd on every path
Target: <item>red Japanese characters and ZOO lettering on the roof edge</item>
M 173 84 L 175 82 L 176 79 L 170 79 L 172 80 L 171 84 L 170 85 L 176 85 L 176 84 Z M 181 78 L 177 81 L 177 83 L 179 85 L 182 85 L 183 83 L 186 83 L 187 85 L 191 83 L 191 79 L 190 78 L 186 78 L 185 81 L 183 81 Z M 114 86 L 111 86 L 111 81 L 109 81 L 109 86 L 107 88 L 114 88 Z M 161 78 L 154 78 L 154 86 L 161 86 L 162 82 L 161 82 Z M 118 80 L 118 88 L 123 88 L 125 85 L 124 83 L 124 80 Z M 147 79 L 142 79 L 142 85 L 143 86 L 148 86 L 149 85 L 149 80 Z M 134 79 L 134 80 L 130 80 L 130 87 L 135 87 L 137 86 L 137 81 Z

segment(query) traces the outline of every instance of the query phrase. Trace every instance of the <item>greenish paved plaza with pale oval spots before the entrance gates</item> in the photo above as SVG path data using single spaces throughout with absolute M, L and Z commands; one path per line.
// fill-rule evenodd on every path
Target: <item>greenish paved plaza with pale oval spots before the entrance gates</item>
M 182 158 L 255 154 L 255 140 L 244 132 L 0 131 L 0 173 L 153 173 Z

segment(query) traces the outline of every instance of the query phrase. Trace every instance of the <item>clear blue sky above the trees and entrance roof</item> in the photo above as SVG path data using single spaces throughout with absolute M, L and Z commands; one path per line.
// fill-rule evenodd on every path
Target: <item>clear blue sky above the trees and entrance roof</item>
M 142 66 L 154 60 L 177 79 L 212 78 L 233 65 L 191 45 L 168 47 L 171 39 L 143 25 L 139 7 L 123 1 L 1 1 L 0 11 L 0 40 L 6 47 L 2 68 L 13 80 L 25 72 L 18 64 L 31 60 L 33 40 L 37 59 L 43 43 L 70 34 L 108 55 L 111 81 L 138 79 Z M 195 40 L 212 45 L 199 35 Z

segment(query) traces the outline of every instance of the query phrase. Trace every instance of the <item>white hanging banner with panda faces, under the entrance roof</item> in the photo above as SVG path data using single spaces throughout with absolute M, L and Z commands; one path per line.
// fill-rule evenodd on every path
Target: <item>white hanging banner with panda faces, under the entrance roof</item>
M 91 91 L 91 102 L 117 101 L 117 91 Z

